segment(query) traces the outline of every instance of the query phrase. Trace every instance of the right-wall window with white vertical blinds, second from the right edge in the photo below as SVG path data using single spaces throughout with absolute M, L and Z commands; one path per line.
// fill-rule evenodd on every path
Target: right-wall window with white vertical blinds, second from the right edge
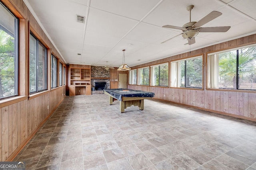
M 171 87 L 202 88 L 203 57 L 171 62 Z

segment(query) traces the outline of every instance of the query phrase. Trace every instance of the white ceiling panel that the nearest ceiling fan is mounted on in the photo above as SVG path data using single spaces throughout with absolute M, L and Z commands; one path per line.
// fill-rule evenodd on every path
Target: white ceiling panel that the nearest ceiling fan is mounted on
M 182 27 L 190 21 L 187 6 L 194 5 L 191 11 L 191 20 L 197 21 L 203 18 L 216 8 L 223 6 L 221 3 L 212 0 L 193 1 L 191 0 L 164 0 L 154 9 L 143 21 L 158 26 L 174 25 Z

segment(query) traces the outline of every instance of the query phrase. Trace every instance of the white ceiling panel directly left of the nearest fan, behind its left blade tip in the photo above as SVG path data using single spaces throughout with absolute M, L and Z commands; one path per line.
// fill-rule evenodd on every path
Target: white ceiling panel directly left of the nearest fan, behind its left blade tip
M 147 23 L 139 23 L 130 33 L 128 33 L 124 38 L 131 39 L 135 41 L 142 41 L 145 43 L 153 43 L 158 39 L 173 33 L 171 29 L 165 29 L 155 25 L 150 25 Z

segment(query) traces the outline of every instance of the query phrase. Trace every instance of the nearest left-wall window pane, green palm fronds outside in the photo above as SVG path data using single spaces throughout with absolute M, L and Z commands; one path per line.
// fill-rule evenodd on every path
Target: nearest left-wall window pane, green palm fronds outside
M 0 2 L 0 99 L 18 95 L 18 19 Z

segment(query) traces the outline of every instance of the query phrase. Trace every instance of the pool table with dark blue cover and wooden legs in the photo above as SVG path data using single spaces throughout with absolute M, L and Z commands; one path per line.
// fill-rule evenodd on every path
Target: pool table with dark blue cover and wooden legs
M 144 99 L 152 99 L 154 93 L 144 92 L 141 90 L 130 90 L 130 89 L 104 89 L 104 94 L 109 96 L 109 104 L 112 105 L 114 98 L 119 100 L 120 112 L 123 113 L 124 109 L 132 105 L 138 106 L 140 110 L 144 109 Z

